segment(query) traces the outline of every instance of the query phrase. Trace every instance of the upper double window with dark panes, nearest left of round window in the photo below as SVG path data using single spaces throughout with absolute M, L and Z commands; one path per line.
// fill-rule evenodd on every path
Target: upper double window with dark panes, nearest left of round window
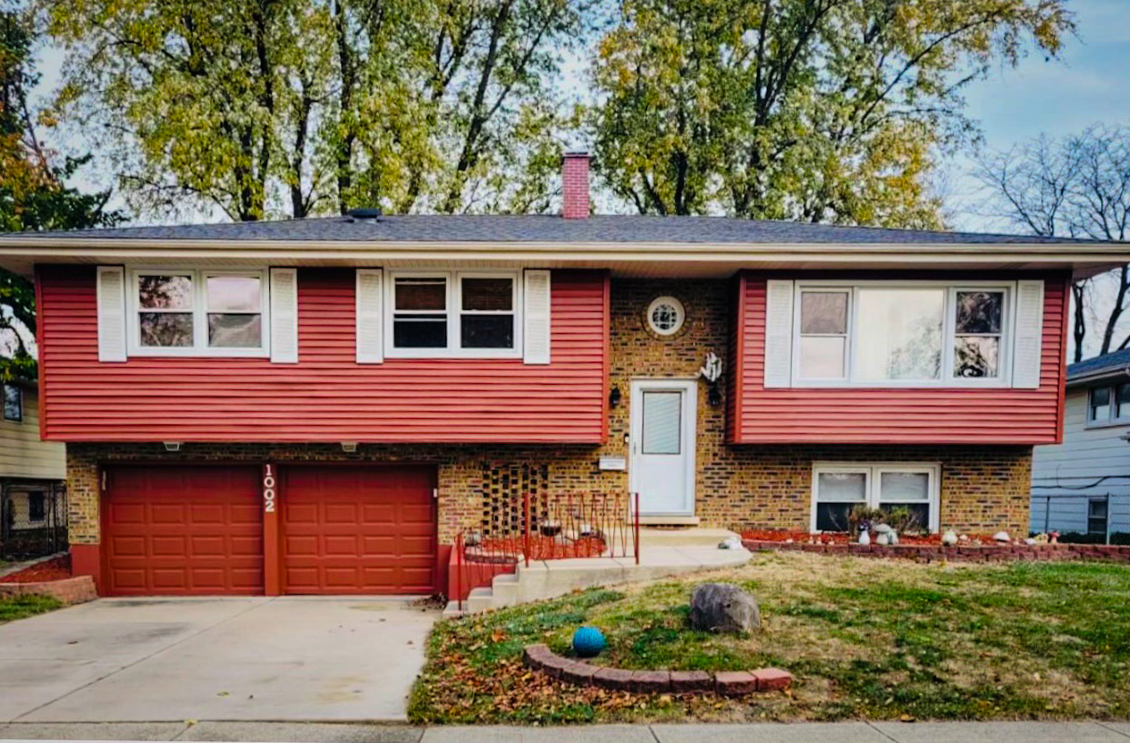
M 390 357 L 512 358 L 522 353 L 516 272 L 390 272 Z

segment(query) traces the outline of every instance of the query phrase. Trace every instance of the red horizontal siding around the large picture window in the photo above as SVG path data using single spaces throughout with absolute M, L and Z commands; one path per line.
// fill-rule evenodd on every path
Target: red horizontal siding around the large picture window
M 1036 390 L 766 390 L 765 278 L 742 276 L 734 343 L 739 368 L 734 372 L 730 440 L 736 444 L 1057 443 L 1068 292 L 1066 277 L 1044 278 L 1043 361 Z

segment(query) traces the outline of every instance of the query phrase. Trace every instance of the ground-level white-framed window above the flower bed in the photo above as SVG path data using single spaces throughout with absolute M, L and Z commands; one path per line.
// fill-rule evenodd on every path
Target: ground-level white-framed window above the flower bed
M 812 467 L 812 531 L 847 531 L 855 506 L 905 508 L 920 528 L 938 530 L 940 467 L 915 463 L 818 463 Z

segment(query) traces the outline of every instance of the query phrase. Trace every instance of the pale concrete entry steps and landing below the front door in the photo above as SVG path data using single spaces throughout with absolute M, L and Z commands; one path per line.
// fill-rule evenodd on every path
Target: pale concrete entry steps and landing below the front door
M 473 614 L 594 586 L 641 583 L 712 568 L 745 565 L 750 553 L 745 549 L 720 550 L 719 542 L 737 536 L 723 528 L 640 530 L 640 565 L 635 558 L 576 558 L 571 560 L 519 562 L 515 572 L 497 575 L 490 587 L 475 588 L 463 611 L 454 601 L 444 617 Z

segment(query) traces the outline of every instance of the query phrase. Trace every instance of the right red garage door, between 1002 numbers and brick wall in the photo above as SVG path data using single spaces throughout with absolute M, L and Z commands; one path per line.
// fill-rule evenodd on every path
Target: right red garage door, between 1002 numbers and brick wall
M 435 591 L 435 470 L 281 470 L 282 589 L 288 594 Z

